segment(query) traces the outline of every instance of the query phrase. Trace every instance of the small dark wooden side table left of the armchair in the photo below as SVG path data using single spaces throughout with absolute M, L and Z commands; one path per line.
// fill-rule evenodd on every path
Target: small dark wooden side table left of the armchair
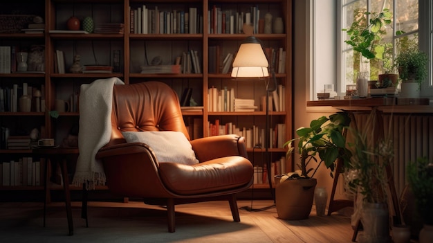
M 68 179 L 68 167 L 67 159 L 70 156 L 77 155 L 78 149 L 62 148 L 62 147 L 41 147 L 33 149 L 33 154 L 39 154 L 41 157 L 47 159 L 45 163 L 45 199 L 44 199 L 44 227 L 45 227 L 45 217 L 46 217 L 46 202 L 50 196 L 50 177 L 48 175 L 48 163 L 59 163 L 62 170 L 63 177 L 63 189 L 66 204 L 66 216 L 68 218 L 68 230 L 69 235 L 73 235 L 73 220 L 72 220 L 72 210 L 71 210 L 71 194 L 69 192 L 69 179 Z

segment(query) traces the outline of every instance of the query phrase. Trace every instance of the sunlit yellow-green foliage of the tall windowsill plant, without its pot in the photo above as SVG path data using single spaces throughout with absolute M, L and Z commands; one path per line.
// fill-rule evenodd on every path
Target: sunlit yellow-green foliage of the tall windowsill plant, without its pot
M 367 16 L 370 16 L 368 22 Z M 386 35 L 385 26 L 391 24 L 391 19 L 392 14 L 387 8 L 378 14 L 360 10 L 356 13 L 350 28 L 342 29 L 350 37 L 344 42 L 353 46 L 353 51 L 358 51 L 367 59 L 381 60 L 385 53 L 385 45 L 380 44 L 380 41 L 383 35 Z

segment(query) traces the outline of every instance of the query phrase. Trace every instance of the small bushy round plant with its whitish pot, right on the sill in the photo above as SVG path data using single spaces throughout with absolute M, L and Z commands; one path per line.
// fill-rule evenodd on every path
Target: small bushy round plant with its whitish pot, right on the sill
M 402 97 L 419 98 L 421 84 L 428 75 L 428 62 L 427 54 L 417 47 L 403 49 L 398 53 L 395 65 L 400 75 Z

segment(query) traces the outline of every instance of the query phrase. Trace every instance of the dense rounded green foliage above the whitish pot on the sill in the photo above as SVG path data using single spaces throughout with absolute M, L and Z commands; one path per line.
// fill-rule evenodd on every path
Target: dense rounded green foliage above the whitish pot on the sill
M 403 49 L 398 53 L 395 65 L 402 82 L 418 82 L 419 86 L 427 78 L 428 56 L 417 47 Z

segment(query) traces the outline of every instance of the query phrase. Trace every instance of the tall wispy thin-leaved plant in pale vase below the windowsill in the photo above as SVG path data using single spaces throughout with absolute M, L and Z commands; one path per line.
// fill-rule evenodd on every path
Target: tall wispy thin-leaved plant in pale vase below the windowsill
M 387 168 L 394 157 L 394 146 L 389 138 L 376 141 L 371 134 L 375 125 L 376 113 L 372 112 L 362 130 L 349 129 L 353 156 L 344 168 L 346 186 L 355 195 L 352 217 L 354 221 L 360 220 L 364 228 L 362 242 L 389 240 Z

